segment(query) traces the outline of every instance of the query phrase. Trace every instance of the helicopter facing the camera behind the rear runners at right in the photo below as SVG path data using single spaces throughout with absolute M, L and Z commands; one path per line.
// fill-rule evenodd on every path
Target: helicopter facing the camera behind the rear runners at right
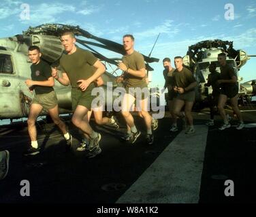
M 244 50 L 234 50 L 233 41 L 207 40 L 200 41 L 189 46 L 187 55 L 183 57 L 183 62 L 194 74 L 199 83 L 196 90 L 197 105 L 204 105 L 208 95 L 212 93 L 212 87 L 204 87 L 210 73 L 209 66 L 211 62 L 217 64 L 217 71 L 220 73 L 220 66 L 217 60 L 218 54 L 227 54 L 227 64 L 234 68 L 238 77 L 239 102 L 241 104 L 251 103 L 253 96 L 256 95 L 256 80 L 241 83 L 242 77 L 239 76 L 239 70 L 247 60 L 255 55 L 247 55 Z

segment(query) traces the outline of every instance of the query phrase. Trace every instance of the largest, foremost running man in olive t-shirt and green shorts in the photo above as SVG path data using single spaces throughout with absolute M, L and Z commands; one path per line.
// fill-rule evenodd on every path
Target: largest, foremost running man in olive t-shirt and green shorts
M 62 77 L 59 77 L 56 68 L 52 68 L 52 76 L 63 85 L 71 85 L 72 109 L 74 114 L 72 123 L 78 127 L 84 136 L 89 136 L 89 157 L 95 157 L 101 153 L 99 140 L 101 135 L 91 128 L 86 118 L 91 109 L 94 96 L 91 95 L 93 81 L 105 71 L 105 66 L 88 50 L 76 47 L 74 33 L 65 32 L 61 35 L 61 43 L 67 54 L 63 54 L 59 60 Z

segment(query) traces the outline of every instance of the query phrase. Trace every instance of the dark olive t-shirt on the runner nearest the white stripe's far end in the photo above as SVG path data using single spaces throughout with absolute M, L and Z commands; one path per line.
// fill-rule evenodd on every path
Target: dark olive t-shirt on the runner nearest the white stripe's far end
M 189 69 L 183 67 L 180 72 L 177 69 L 174 71 L 174 84 L 177 87 L 185 88 L 193 82 L 195 82 L 195 77 Z

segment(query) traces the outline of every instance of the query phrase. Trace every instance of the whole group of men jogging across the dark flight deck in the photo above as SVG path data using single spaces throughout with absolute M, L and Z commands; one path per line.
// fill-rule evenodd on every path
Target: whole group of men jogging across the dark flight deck
M 95 157 L 101 153 L 99 141 L 101 134 L 95 132 L 89 120 L 92 112 L 94 113 L 95 122 L 99 125 L 107 124 L 118 128 L 116 119 L 112 116 L 102 117 L 102 110 L 99 108 L 92 108 L 92 102 L 95 96 L 91 94 L 94 87 L 103 85 L 101 75 L 105 73 L 105 66 L 88 50 L 82 50 L 76 46 L 76 38 L 74 33 L 65 32 L 61 35 L 61 43 L 65 49 L 65 53 L 59 59 L 55 66 L 50 66 L 47 62 L 41 59 L 42 53 L 39 47 L 32 45 L 29 47 L 29 59 L 31 60 L 31 79 L 25 81 L 31 92 L 35 92 L 35 96 L 31 103 L 29 111 L 28 131 L 31 139 L 31 144 L 25 155 L 36 155 L 40 152 L 40 147 L 37 143 L 37 130 L 35 122 L 42 110 L 47 110 L 52 118 L 52 121 L 59 127 L 65 138 L 67 148 L 71 147 L 72 136 L 67 130 L 67 126 L 59 117 L 59 108 L 57 102 L 57 95 L 54 92 L 54 79 L 59 81 L 62 85 L 71 85 L 71 104 L 74 111 L 72 116 L 72 123 L 78 127 L 82 132 L 84 138 L 78 147 L 77 151 L 86 151 L 87 157 Z M 142 94 L 140 100 L 136 100 L 135 96 L 138 94 L 137 89 L 147 88 L 146 81 L 146 66 L 144 57 L 133 48 L 133 35 L 123 36 L 123 47 L 125 55 L 122 62 L 118 63 L 118 68 L 123 71 L 123 74 L 118 77 L 117 82 L 123 82 L 126 93 L 123 96 L 121 103 L 121 113 L 127 123 L 127 135 L 123 139 L 133 144 L 141 135 L 140 130 L 137 129 L 131 115 L 131 108 L 133 104 L 140 108 L 139 114 L 146 123 L 146 141 L 148 144 L 153 144 L 154 136 L 153 130 L 157 129 L 158 122 L 153 119 L 148 113 L 148 96 Z M 212 86 L 213 92 L 210 95 L 210 121 L 208 125 L 213 125 L 214 106 L 217 105 L 219 113 L 223 118 L 223 125 L 219 130 L 225 130 L 230 127 L 229 120 L 225 114 L 224 106 L 227 98 L 230 98 L 231 106 L 236 113 L 240 123 L 236 129 L 240 130 L 244 127 L 242 115 L 238 109 L 238 85 L 237 77 L 234 69 L 227 65 L 226 55 L 219 54 L 218 61 L 220 64 L 221 73 L 216 71 L 216 64 L 210 64 L 208 75 L 208 83 L 206 86 Z M 176 69 L 172 68 L 170 58 L 163 59 L 163 77 L 165 79 L 165 88 L 168 90 L 168 107 L 172 117 L 172 126 L 170 131 L 178 131 L 177 119 L 183 119 L 187 123 L 185 134 L 195 133 L 193 126 L 193 116 L 191 113 L 193 103 L 195 102 L 195 87 L 197 81 L 193 73 L 183 65 L 182 57 L 176 56 L 174 58 Z M 57 66 L 61 69 L 61 76 L 57 71 Z M 133 87 L 133 88 L 129 88 Z M 131 91 L 132 90 L 132 91 Z M 141 92 L 140 92 L 141 94 Z M 136 100 L 136 102 L 135 102 Z M 182 108 L 184 107 L 184 111 Z M 1 170 L 1 178 L 4 178 L 8 170 L 9 152 L 0 152 L 0 164 L 3 164 Z M 0 165 L 0 166 L 1 166 Z

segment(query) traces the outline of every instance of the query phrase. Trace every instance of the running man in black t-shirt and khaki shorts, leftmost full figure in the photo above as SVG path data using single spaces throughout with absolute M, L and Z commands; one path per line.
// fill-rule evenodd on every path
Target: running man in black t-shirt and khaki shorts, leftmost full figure
M 29 110 L 29 119 L 27 120 L 31 146 L 25 155 L 37 155 L 40 151 L 37 143 L 35 121 L 43 109 L 48 111 L 52 121 L 61 130 L 69 148 L 72 143 L 72 136 L 67 132 L 65 123 L 59 118 L 58 100 L 53 89 L 54 79 L 50 65 L 44 62 L 44 60 L 41 60 L 41 56 L 42 53 L 39 47 L 34 45 L 29 47 L 29 59 L 32 62 L 31 79 L 27 79 L 25 83 L 31 92 L 33 92 L 33 90 L 35 91 L 35 96 L 32 100 Z

